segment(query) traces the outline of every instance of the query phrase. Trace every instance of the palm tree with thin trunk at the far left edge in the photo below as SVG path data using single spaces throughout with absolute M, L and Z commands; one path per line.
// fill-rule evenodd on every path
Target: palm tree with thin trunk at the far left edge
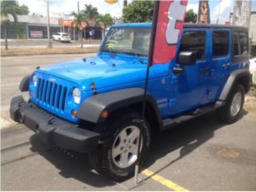
M 4 26 L 4 36 L 5 36 L 5 49 L 8 50 L 7 44 L 7 25 L 10 24 L 9 15 L 12 15 L 14 19 L 14 24 L 17 22 L 17 14 L 20 13 L 18 10 L 16 2 L 13 1 L 1 1 L 1 24 Z

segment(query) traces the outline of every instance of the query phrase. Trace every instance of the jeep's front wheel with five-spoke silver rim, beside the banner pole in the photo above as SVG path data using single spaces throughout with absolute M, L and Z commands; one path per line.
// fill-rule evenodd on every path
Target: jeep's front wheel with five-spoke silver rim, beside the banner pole
M 92 167 L 100 174 L 120 181 L 134 174 L 137 160 L 139 132 L 142 131 L 140 163 L 145 160 L 150 147 L 151 133 L 147 122 L 141 122 L 137 113 L 113 118 L 94 130 L 101 133 L 102 144 L 89 154 Z

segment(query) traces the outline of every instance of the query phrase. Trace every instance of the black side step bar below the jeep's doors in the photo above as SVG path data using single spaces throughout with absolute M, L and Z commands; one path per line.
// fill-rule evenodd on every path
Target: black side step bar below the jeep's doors
M 201 108 L 197 108 L 194 111 L 186 112 L 182 115 L 176 116 L 174 118 L 166 118 L 163 119 L 163 126 L 161 127 L 161 131 L 169 129 L 175 125 L 178 125 L 182 122 L 185 122 L 190 119 L 194 119 L 206 113 L 212 112 L 225 104 L 225 101 L 217 101 L 214 104 L 202 106 Z

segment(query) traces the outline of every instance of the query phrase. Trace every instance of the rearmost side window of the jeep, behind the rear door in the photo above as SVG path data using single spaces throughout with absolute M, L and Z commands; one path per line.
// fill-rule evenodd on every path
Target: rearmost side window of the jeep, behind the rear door
M 233 33 L 233 54 L 234 56 L 248 54 L 248 36 L 246 32 Z

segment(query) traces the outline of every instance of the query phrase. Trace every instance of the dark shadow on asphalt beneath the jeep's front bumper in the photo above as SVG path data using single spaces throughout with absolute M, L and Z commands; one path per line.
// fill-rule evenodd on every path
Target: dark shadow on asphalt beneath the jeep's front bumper
M 30 137 L 32 152 L 47 159 L 57 169 L 63 178 L 74 178 L 94 187 L 112 186 L 115 183 L 94 172 L 89 164 L 87 154 L 67 151 L 56 146 L 47 146 L 37 135 Z

